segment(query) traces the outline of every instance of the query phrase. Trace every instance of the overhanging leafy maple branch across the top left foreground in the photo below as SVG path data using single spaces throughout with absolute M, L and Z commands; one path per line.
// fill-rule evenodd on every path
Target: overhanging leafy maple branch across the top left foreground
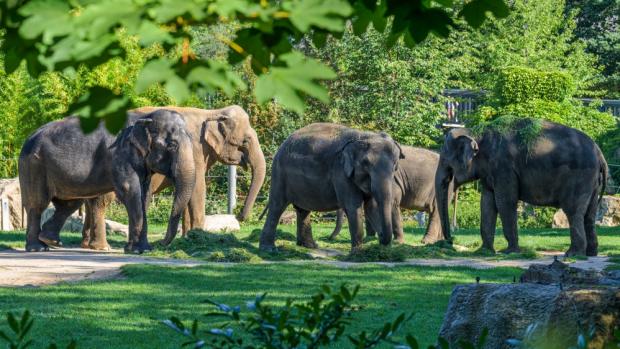
M 470 0 L 463 6 L 453 0 L 15 0 L 0 2 L 1 49 L 8 74 L 24 61 L 33 77 L 71 72 L 124 57 L 123 31 L 143 47 L 164 50 L 164 57 L 146 62 L 136 92 L 161 84 L 177 103 L 192 92 L 219 90 L 230 96 L 247 88 L 232 66 L 249 60 L 258 75 L 256 99 L 275 99 L 302 113 L 306 96 L 329 101 L 321 80 L 336 77 L 325 64 L 295 50 L 302 38 L 320 46 L 330 35 L 340 37 L 350 21 L 357 35 L 372 24 L 389 30 L 388 45 L 402 38 L 412 47 L 430 33 L 448 35 L 456 7 L 461 7 L 456 16 L 473 27 L 488 14 L 508 14 L 504 0 Z M 192 52 L 192 27 L 231 21 L 239 25 L 233 39 L 222 39 L 229 47 L 227 62 Z M 81 116 L 87 131 L 102 119 L 117 131 L 130 107 L 115 91 L 92 87 L 70 110 Z

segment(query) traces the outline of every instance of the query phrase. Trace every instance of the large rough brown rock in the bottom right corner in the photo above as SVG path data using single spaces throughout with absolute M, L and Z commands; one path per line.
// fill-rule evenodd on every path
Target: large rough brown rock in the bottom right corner
M 513 348 L 508 339 L 524 340 L 527 347 L 565 349 L 575 346 L 580 325 L 594 329 L 588 348 L 603 348 L 620 326 L 620 289 L 557 285 L 474 284 L 457 286 L 450 297 L 439 335 L 451 347 L 459 340 L 477 343 L 484 328 L 483 348 Z

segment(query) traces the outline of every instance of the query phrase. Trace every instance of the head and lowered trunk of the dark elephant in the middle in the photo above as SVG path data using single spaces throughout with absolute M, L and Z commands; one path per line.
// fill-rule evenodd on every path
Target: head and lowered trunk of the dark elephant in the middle
M 363 192 L 365 200 L 374 202 L 379 241 L 388 245 L 392 240 L 394 171 L 398 160 L 404 158 L 400 146 L 381 133 L 348 142 L 342 158 L 345 175 Z

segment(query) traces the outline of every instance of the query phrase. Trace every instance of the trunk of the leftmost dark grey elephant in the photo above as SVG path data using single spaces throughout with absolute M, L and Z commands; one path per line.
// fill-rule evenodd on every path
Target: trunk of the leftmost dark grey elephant
M 168 222 L 168 230 L 163 241 L 164 245 L 170 244 L 176 236 L 181 214 L 187 207 L 196 184 L 196 168 L 192 144 L 189 139 L 180 142 L 179 151 L 174 156 L 171 167 L 171 179 L 174 182 L 174 201 Z

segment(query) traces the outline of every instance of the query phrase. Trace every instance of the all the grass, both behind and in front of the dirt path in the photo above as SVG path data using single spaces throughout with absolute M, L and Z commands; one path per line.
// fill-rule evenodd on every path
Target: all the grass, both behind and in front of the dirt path
M 197 232 L 191 239 L 177 238 L 169 248 L 158 247 L 155 256 L 177 258 L 204 258 L 217 260 L 260 261 L 261 259 L 309 259 L 308 250 L 295 246 L 295 227 L 282 225 L 278 231 L 276 254 L 258 251 L 260 225 L 244 225 L 235 234 L 209 234 Z M 163 226 L 151 227 L 151 241 L 161 238 Z M 322 248 L 349 250 L 346 230 L 334 241 L 328 241 L 332 225 L 315 224 L 314 236 Z M 620 255 L 620 229 L 599 228 L 601 254 Z M 476 229 L 459 230 L 457 250 L 439 246 L 421 246 L 423 231 L 406 225 L 405 246 L 393 247 L 398 257 L 407 258 L 477 256 L 480 237 Z M 78 233 L 63 232 L 65 245 L 78 246 Z M 112 246 L 124 244 L 121 236 L 109 238 Z M 484 258 L 535 258 L 537 252 L 566 250 L 569 235 L 566 229 L 522 229 L 521 246 L 525 253 L 519 255 L 485 256 Z M 0 248 L 19 248 L 24 245 L 24 232 L 0 233 Z M 393 255 L 376 256 L 376 240 L 365 242 L 370 257 L 392 258 Z M 505 246 L 498 231 L 496 248 Z M 374 252 L 373 252 L 374 251 Z M 343 257 L 349 258 L 349 257 Z M 618 257 L 614 261 L 620 262 Z M 185 320 L 198 318 L 208 325 L 217 325 L 203 316 L 209 311 L 206 299 L 230 305 L 243 305 L 257 294 L 268 292 L 269 302 L 283 304 L 286 298 L 306 300 L 322 284 L 360 284 L 362 290 L 356 304 L 359 310 L 350 331 L 372 330 L 385 321 L 393 320 L 402 312 L 415 316 L 403 333 L 413 333 L 421 344 L 435 340 L 441 325 L 448 298 L 456 284 L 474 282 L 512 282 L 521 271 L 513 268 L 473 270 L 468 268 L 432 268 L 400 266 L 387 268 L 377 265 L 360 265 L 354 268 L 336 268 L 318 264 L 209 264 L 195 268 L 173 268 L 133 265 L 123 269 L 120 280 L 90 281 L 77 284 L 60 284 L 40 288 L 0 288 L 0 313 L 22 312 L 30 309 L 36 318 L 35 348 L 42 348 L 48 339 L 59 344 L 75 338 L 80 348 L 172 348 L 179 347 L 182 338 L 161 325 L 160 321 L 172 315 Z M 0 330 L 6 324 L 0 322 Z M 342 341 L 334 348 L 350 347 Z M 386 346 L 386 348 L 389 346 Z

